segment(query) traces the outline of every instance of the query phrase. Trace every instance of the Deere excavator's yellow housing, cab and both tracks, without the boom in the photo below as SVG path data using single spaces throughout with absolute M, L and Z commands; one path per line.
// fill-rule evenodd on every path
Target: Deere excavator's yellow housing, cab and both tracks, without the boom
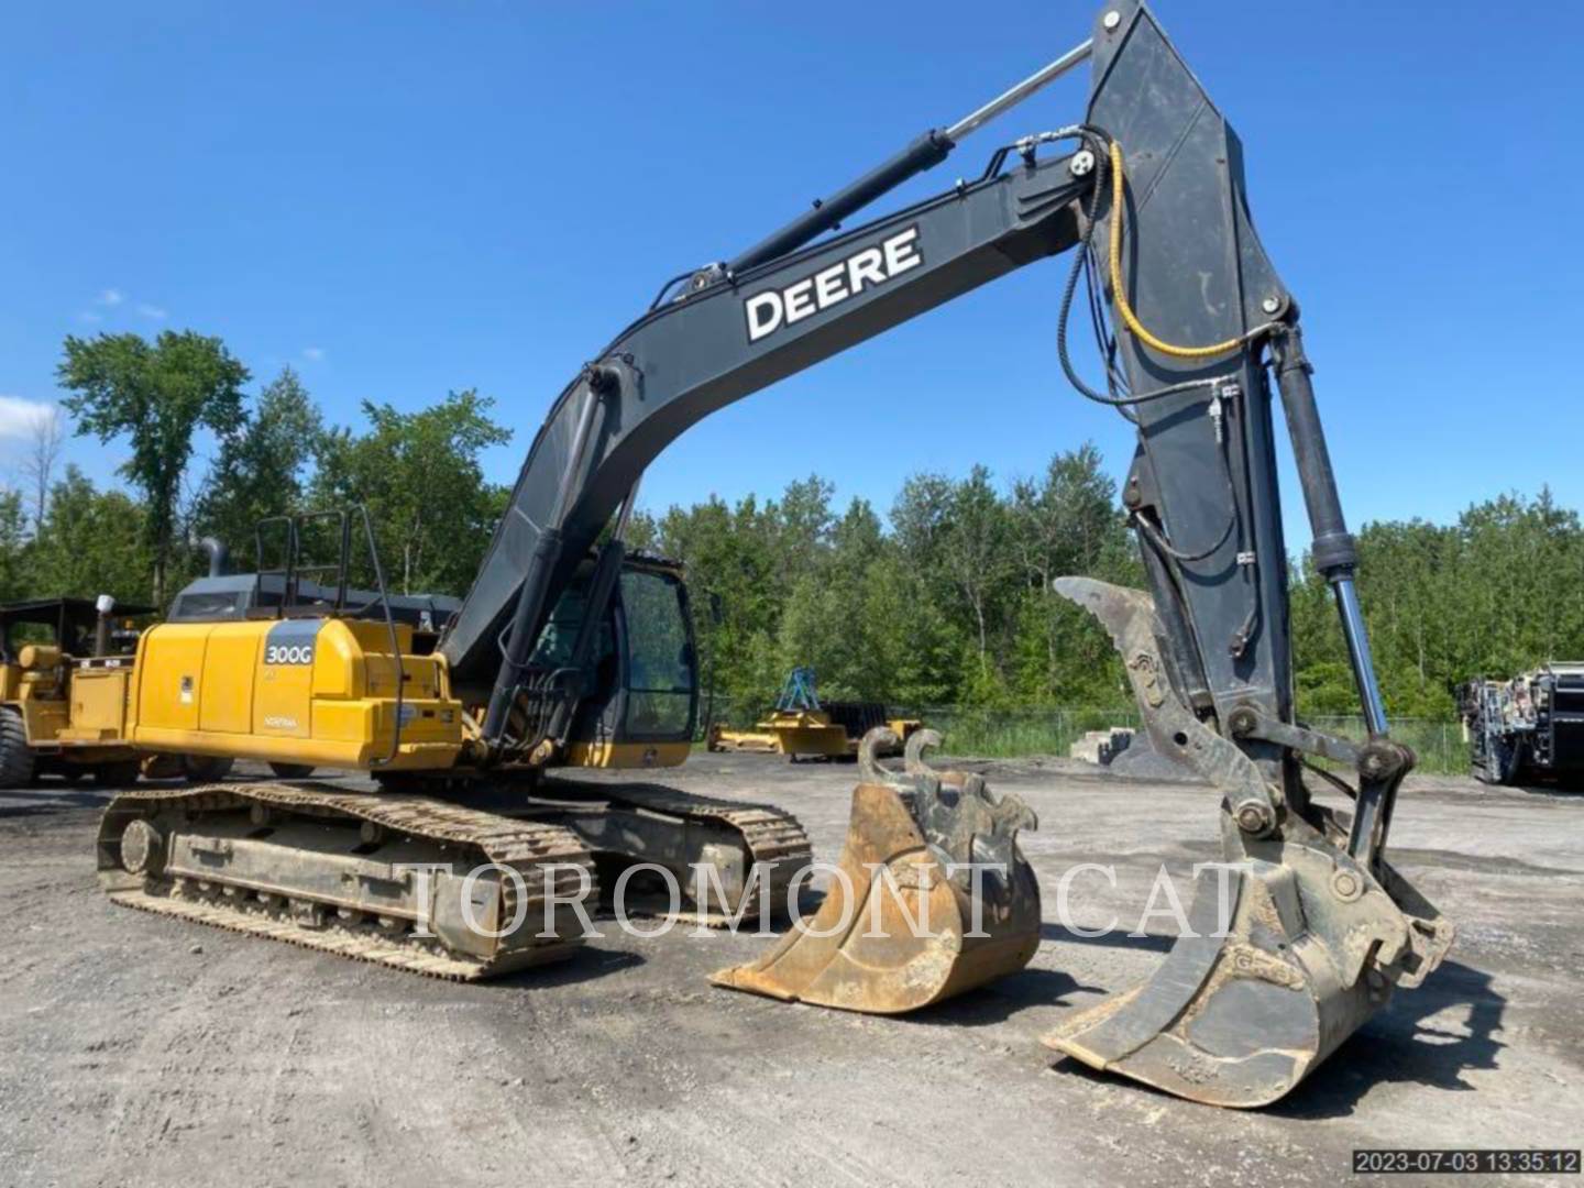
M 106 808 L 97 865 L 112 901 L 472 980 L 573 952 L 584 904 L 621 866 L 657 865 L 687 887 L 708 866 L 708 889 L 673 911 L 716 923 L 760 900 L 773 911 L 811 857 L 797 821 L 770 806 L 546 778 L 687 757 L 695 651 L 675 562 L 623 565 L 588 657 L 596 683 L 564 719 L 554 681 L 575 668 L 584 613 L 583 588 L 569 591 L 524 673 L 508 754 L 486 754 L 478 694 L 453 686 L 429 621 L 398 619 L 390 602 L 364 619 L 342 613 L 344 594 L 326 605 L 282 584 L 279 607 L 238 605 L 260 575 L 196 591 L 233 597 L 188 618 L 179 597 L 128 657 L 125 737 L 160 775 L 198 786 L 127 789 Z M 204 760 L 233 759 L 263 760 L 282 781 L 204 773 Z M 382 787 L 315 782 L 317 767 L 374 771 Z M 439 871 L 432 935 L 415 863 Z

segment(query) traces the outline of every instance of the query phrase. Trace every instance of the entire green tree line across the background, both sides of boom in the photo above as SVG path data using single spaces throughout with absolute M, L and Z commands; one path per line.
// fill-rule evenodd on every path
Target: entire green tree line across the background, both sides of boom
M 333 426 L 295 371 L 249 394 L 249 369 L 192 331 L 68 337 L 59 380 L 71 431 L 128 451 L 125 488 L 73 466 L 55 475 L 59 431 L 43 425 L 25 483 L 0 494 L 5 599 L 111 592 L 163 607 L 201 572 L 201 537 L 246 569 L 260 520 L 350 504 L 369 507 L 391 588 L 464 594 L 508 497 L 480 453 L 512 434 L 474 390 L 418 412 L 364 401 L 361 425 Z M 1009 482 L 984 466 L 916 474 L 884 516 L 863 499 L 838 505 L 819 475 L 770 499 L 640 510 L 630 545 L 687 565 L 703 678 L 732 705 L 768 703 L 794 665 L 813 665 L 825 695 L 895 705 L 1129 703 L 1110 642 L 1050 589 L 1063 573 L 1142 584 L 1091 445 Z M 1451 524 L 1370 523 L 1359 550 L 1399 716 L 1446 718 L 1470 676 L 1584 656 L 1584 526 L 1546 489 Z M 1300 711 L 1353 713 L 1335 611 L 1307 558 L 1293 561 L 1291 596 Z

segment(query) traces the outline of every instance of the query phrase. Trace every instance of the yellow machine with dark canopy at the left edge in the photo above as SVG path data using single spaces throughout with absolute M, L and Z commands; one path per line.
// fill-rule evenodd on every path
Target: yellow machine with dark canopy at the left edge
M 122 732 L 136 619 L 150 607 L 33 599 L 0 607 L 0 787 L 138 778 Z

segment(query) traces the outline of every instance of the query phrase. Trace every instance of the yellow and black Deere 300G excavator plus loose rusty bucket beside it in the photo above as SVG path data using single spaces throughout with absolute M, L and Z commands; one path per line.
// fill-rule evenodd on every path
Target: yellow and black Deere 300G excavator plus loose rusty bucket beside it
M 844 227 L 1083 62 L 1080 122 L 1009 139 L 977 176 Z M 1110 634 L 1152 743 L 1220 797 L 1223 862 L 1198 871 L 1191 927 L 1155 976 L 1077 1012 L 1049 1044 L 1183 1098 L 1277 1101 L 1396 987 L 1422 982 L 1453 927 L 1386 859 L 1415 756 L 1391 738 L 1375 680 L 1299 304 L 1255 231 L 1240 141 L 1139 0 L 1110 0 L 1091 36 L 1041 71 L 733 258 L 667 282 L 556 398 L 437 638 L 388 611 L 383 623 L 347 613 L 339 592 L 307 611 L 285 599 L 261 618 L 146 632 L 128 695 L 139 746 L 355 767 L 380 790 L 127 792 L 100 832 L 106 890 L 451 977 L 564 957 L 600 855 L 664 863 L 687 851 L 711 870 L 730 865 L 737 897 L 703 911 L 741 909 L 751 871 L 768 868 L 754 885 L 779 892 L 781 871 L 808 855 L 784 814 L 645 784 L 599 784 L 578 800 L 551 778 L 686 752 L 697 702 L 686 589 L 673 567 L 626 550 L 638 480 L 711 412 L 1063 253 L 1057 358 L 1083 398 L 1136 428 L 1121 499 L 1148 589 L 1085 577 L 1057 589 Z M 1071 358 L 1079 306 L 1098 379 Z M 1041 380 L 1019 361 L 1007 382 Z M 1277 401 L 1364 743 L 1294 713 Z M 933 770 L 933 741 L 919 732 L 890 770 L 876 752 L 895 740 L 866 738 L 836 863 L 847 878 L 816 916 L 897 917 L 895 895 L 874 898 L 878 871 L 930 900 L 933 931 L 794 928 L 718 984 L 897 1014 L 1030 960 L 1039 887 L 1017 838 L 1034 816 L 977 775 Z M 469 866 L 486 873 L 464 878 Z M 976 871 L 988 871 L 979 884 Z M 524 897 L 534 922 L 516 927 Z

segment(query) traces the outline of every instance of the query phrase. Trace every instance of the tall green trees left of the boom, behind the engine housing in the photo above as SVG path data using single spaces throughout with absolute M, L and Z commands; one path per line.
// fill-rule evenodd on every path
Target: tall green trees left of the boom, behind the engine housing
M 163 608 L 204 572 L 204 537 L 252 569 L 260 521 L 352 504 L 369 507 L 393 589 L 466 591 L 505 507 L 478 455 L 512 434 L 474 390 L 418 412 L 364 401 L 353 429 L 326 425 L 290 367 L 250 396 L 249 369 L 192 331 L 68 337 L 62 355 L 70 428 L 127 451 L 125 488 L 70 464 L 54 474 L 60 431 L 40 421 L 25 489 L 0 493 L 0 599 L 108 592 Z M 261 543 L 265 562 L 280 564 L 282 537 Z M 353 577 L 366 581 L 353 545 Z M 320 548 L 314 559 L 331 558 Z

